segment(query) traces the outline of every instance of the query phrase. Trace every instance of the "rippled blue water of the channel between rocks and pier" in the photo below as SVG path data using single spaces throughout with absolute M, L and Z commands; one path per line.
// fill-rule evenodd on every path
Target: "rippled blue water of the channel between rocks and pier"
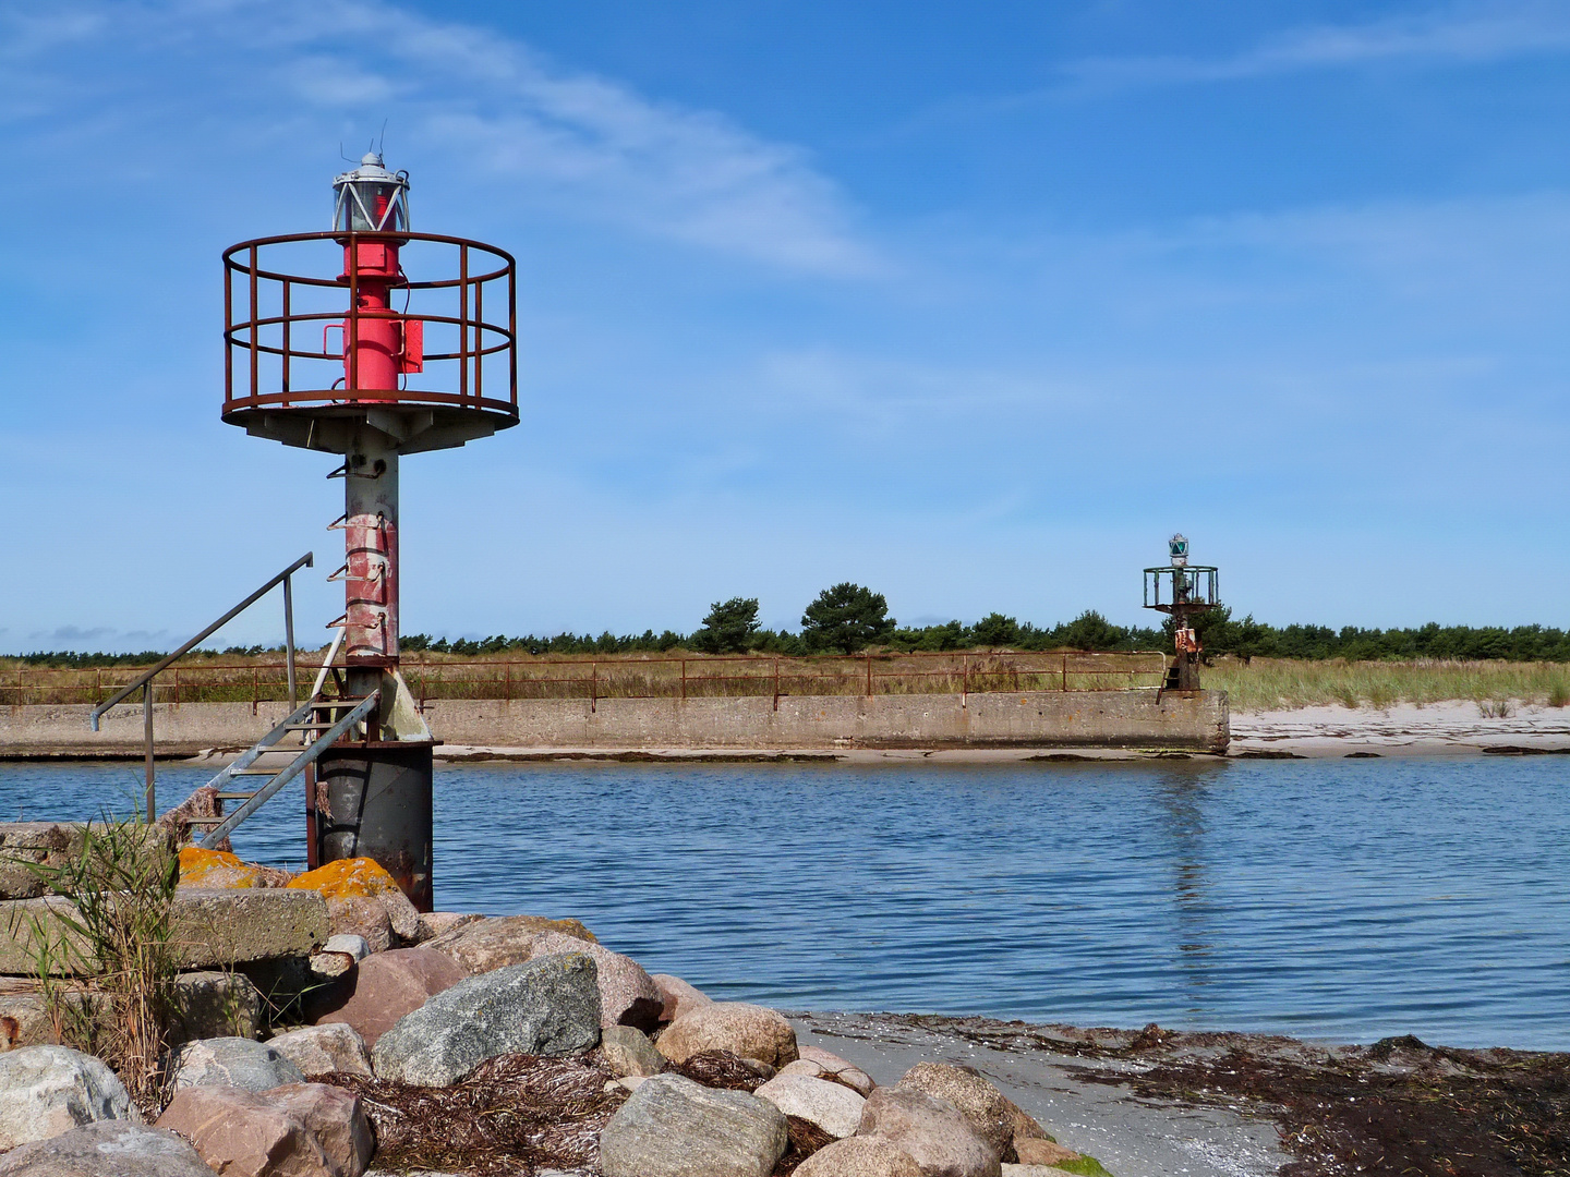
M 438 767 L 436 906 L 791 1009 L 1570 1050 L 1570 764 Z M 126 764 L 0 766 L 6 818 Z M 166 767 L 171 805 L 209 774 Z M 300 866 L 294 791 L 236 836 Z

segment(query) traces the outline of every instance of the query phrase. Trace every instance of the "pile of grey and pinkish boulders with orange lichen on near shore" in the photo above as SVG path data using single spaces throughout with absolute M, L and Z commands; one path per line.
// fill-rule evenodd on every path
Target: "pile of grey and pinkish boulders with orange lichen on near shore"
M 69 851 L 50 830 L 11 838 Z M 181 981 L 162 1111 L 144 1124 L 104 1062 L 39 1040 L 28 1006 L 27 1033 L 0 1034 L 0 1177 L 361 1177 L 378 1149 L 410 1171 L 603 1177 L 1080 1161 L 975 1070 L 922 1062 L 879 1088 L 779 1012 L 650 976 L 576 920 L 419 915 L 369 860 L 279 879 L 181 858 L 181 918 L 209 931 L 181 949 L 199 968 Z

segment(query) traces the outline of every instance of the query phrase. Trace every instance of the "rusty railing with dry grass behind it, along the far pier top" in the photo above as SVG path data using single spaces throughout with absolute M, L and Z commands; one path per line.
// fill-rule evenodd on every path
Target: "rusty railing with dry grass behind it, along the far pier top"
M 579 654 L 476 659 L 405 656 L 403 676 L 430 700 L 716 698 L 791 695 L 966 695 L 1024 691 L 1159 689 L 1160 653 Z M 141 667 L 0 669 L 0 705 L 102 703 Z M 284 662 L 212 661 L 171 667 L 154 701 L 261 703 L 287 698 Z

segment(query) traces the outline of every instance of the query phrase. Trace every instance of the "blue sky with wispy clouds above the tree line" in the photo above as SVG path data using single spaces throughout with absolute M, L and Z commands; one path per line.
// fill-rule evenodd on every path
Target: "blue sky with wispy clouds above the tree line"
M 330 458 L 218 421 L 220 251 L 520 261 L 523 424 L 403 465 L 403 628 L 1570 625 L 1562 3 L 0 3 L 0 650 L 177 640 Z M 275 610 L 225 639 L 275 640 Z

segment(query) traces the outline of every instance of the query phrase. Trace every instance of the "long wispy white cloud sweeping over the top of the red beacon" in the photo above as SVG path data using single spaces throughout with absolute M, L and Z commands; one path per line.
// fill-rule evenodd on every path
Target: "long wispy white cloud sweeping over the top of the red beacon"
M 493 28 L 371 0 L 78 0 L 50 22 L 0 0 L 0 31 L 27 77 L 0 78 L 0 118 L 86 124 L 111 108 L 124 126 L 141 102 L 152 130 L 168 118 L 160 86 L 182 102 L 201 93 L 193 118 L 221 118 L 236 138 L 314 124 L 331 143 L 391 115 L 427 157 L 571 215 L 788 271 L 882 268 L 801 148 L 556 66 Z M 367 38 L 374 63 L 355 52 Z

